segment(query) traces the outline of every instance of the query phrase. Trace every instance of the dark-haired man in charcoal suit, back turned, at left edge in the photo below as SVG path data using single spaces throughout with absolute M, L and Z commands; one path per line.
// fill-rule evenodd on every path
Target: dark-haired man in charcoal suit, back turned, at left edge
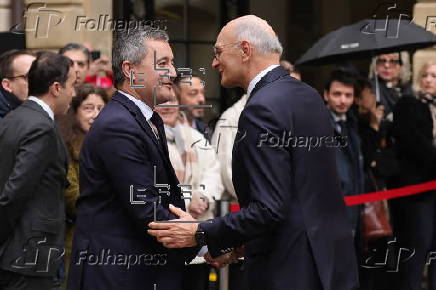
M 31 96 L 0 122 L 0 289 L 59 289 L 68 166 L 54 117 L 75 95 L 72 65 L 41 54 L 29 71 Z

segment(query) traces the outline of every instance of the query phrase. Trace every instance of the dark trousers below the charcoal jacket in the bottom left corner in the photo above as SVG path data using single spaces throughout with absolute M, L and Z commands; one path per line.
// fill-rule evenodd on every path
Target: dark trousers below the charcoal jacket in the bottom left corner
M 55 277 L 24 276 L 0 270 L 0 290 L 59 290 Z

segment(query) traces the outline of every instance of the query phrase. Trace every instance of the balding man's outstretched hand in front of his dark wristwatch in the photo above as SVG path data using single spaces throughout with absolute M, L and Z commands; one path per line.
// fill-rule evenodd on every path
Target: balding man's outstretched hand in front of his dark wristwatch
M 170 204 L 170 211 L 179 216 L 179 219 L 171 220 L 177 223 L 157 223 L 148 224 L 150 228 L 147 232 L 155 236 L 157 240 L 166 248 L 187 248 L 197 245 L 195 241 L 195 232 L 198 223 L 180 223 L 180 221 L 195 221 L 187 212 Z

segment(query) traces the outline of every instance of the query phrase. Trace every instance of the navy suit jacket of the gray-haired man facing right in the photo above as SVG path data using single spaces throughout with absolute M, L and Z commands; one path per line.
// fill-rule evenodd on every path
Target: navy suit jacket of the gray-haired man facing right
M 184 262 L 195 252 L 168 250 L 147 234 L 154 215 L 177 218 L 168 211 L 170 203 L 185 209 L 165 132 L 160 135 L 165 147 L 139 108 L 118 92 L 93 123 L 80 156 L 68 289 L 180 289 Z M 97 264 L 96 256 L 102 257 Z

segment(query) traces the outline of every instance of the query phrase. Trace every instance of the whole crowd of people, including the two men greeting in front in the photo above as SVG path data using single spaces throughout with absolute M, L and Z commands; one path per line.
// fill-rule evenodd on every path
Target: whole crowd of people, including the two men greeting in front
M 229 264 L 230 289 L 436 289 L 434 191 L 343 202 L 436 178 L 435 61 L 414 88 L 407 53 L 381 54 L 318 94 L 241 17 L 212 66 L 246 94 L 209 128 L 204 80 L 176 75 L 164 31 L 120 33 L 112 62 L 92 50 L 0 56 L 0 289 L 204 290 Z M 283 131 L 342 141 L 258 146 Z M 218 217 L 219 200 L 240 210 Z

